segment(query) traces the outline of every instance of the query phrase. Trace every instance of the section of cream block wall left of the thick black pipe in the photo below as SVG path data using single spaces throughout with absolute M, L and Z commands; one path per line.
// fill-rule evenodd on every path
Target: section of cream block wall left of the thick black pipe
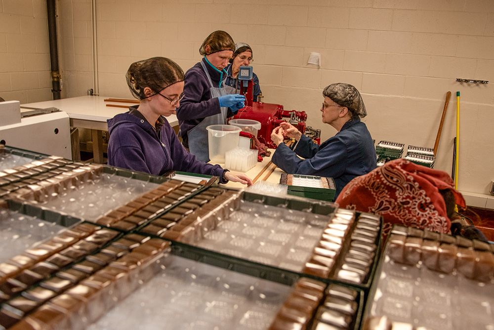
M 46 1 L 0 0 L 0 97 L 5 100 L 51 99 L 46 11 Z

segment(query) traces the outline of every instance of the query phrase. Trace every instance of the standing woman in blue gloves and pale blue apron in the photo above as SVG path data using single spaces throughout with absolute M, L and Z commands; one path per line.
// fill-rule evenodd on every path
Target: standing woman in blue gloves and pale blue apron
M 185 97 L 177 108 L 179 135 L 184 147 L 197 159 L 209 162 L 206 127 L 226 124 L 244 107 L 245 97 L 225 85 L 225 68 L 232 58 L 235 43 L 224 31 L 211 33 L 201 45 L 201 62 L 185 73 Z

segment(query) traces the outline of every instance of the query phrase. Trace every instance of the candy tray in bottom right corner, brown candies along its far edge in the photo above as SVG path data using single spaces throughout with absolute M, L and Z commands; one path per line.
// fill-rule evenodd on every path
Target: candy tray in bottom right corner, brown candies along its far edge
M 494 328 L 493 245 L 394 226 L 381 264 L 367 329 Z

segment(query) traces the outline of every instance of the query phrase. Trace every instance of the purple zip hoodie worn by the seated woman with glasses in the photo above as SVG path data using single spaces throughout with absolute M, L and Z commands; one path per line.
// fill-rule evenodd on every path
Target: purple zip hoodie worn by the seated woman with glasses
M 136 111 L 132 107 L 129 109 Z M 144 117 L 129 112 L 109 119 L 108 165 L 154 175 L 171 170 L 215 175 L 223 183 L 220 165 L 198 161 L 184 149 L 168 121 L 164 117 L 158 121 L 163 124 L 159 133 Z

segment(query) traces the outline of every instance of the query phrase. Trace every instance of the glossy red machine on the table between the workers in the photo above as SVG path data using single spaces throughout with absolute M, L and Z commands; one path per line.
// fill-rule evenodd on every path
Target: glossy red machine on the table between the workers
M 247 92 L 244 91 L 244 80 L 241 80 L 240 93 L 246 97 L 246 107 L 239 110 L 235 119 L 250 119 L 261 123 L 261 129 L 257 132 L 257 139 L 268 148 L 276 149 L 276 145 L 271 141 L 271 132 L 281 122 L 288 122 L 297 127 L 299 131 L 305 133 L 307 114 L 305 111 L 286 111 L 280 104 L 253 102 L 253 82 L 248 81 Z M 283 120 L 289 118 L 289 120 Z

